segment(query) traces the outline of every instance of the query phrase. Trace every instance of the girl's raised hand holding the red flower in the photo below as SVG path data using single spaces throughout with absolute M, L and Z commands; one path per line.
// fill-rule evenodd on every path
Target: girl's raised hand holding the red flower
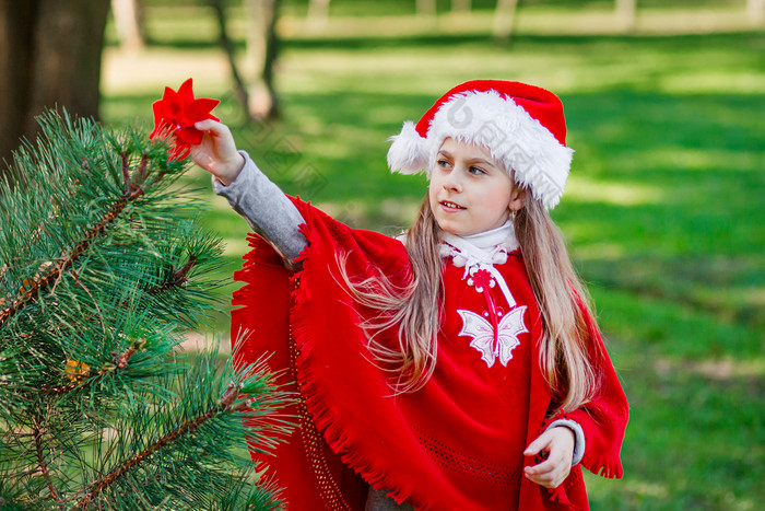
M 236 150 L 231 130 L 212 119 L 200 120 L 193 127 L 204 131 L 204 138 L 199 146 L 191 146 L 191 159 L 217 181 L 231 185 L 245 166 L 245 159 Z

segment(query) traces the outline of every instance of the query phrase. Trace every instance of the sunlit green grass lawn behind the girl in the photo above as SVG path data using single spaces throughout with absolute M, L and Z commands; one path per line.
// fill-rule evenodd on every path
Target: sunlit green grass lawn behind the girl
M 345 3 L 338 2 L 340 14 L 360 14 L 357 4 Z M 289 5 L 289 14 L 302 15 L 303 3 Z M 399 12 L 402 2 L 396 5 L 395 13 L 405 14 Z M 374 26 L 374 9 L 379 14 L 381 8 L 372 9 L 365 16 Z M 682 36 L 529 31 L 509 46 L 476 31 L 460 35 L 437 27 L 396 38 L 384 35 L 386 25 L 366 37 L 296 34 L 284 40 L 276 76 L 282 118 L 245 127 L 220 53 L 209 45 L 211 33 L 184 24 L 212 26 L 205 13 L 179 11 L 174 20 L 153 20 L 164 27 L 154 37 L 162 44 L 140 58 L 110 50 L 107 120 L 139 116 L 148 123 L 162 85 L 177 86 L 193 76 L 199 94 L 223 97 L 217 115 L 285 191 L 361 228 L 395 232 L 411 221 L 426 183 L 388 173 L 386 138 L 449 86 L 492 77 L 557 92 L 568 143 L 577 152 L 554 218 L 589 282 L 632 407 L 624 480 L 588 477 L 591 506 L 762 506 L 762 31 Z M 246 251 L 247 225 L 210 195 L 201 171 L 188 181 L 210 196 L 205 221 L 228 242 L 233 271 Z M 219 326 L 224 324 L 221 316 Z

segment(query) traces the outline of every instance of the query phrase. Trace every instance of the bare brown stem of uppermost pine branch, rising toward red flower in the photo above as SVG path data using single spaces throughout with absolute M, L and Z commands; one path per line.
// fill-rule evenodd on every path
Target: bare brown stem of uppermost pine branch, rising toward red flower
M 122 153 L 122 178 L 125 179 L 125 195 L 114 205 L 111 210 L 106 213 L 98 223 L 96 223 L 78 243 L 78 245 L 62 259 L 60 259 L 44 277 L 35 277 L 32 280 L 25 280 L 24 286 L 19 291 L 16 298 L 4 310 L 0 311 L 0 326 L 2 326 L 10 317 L 17 314 L 28 303 L 34 301 L 39 293 L 52 282 L 57 281 L 66 269 L 71 266 L 92 244 L 96 239 L 106 232 L 106 229 L 111 225 L 119 214 L 125 210 L 126 206 L 142 196 L 145 190 L 145 173 L 148 166 L 148 158 L 141 156 L 138 169 L 133 173 L 138 179 L 131 179 L 129 175 L 129 162 L 127 153 Z M 151 183 L 157 183 L 164 173 Z M 138 185 L 137 183 L 141 183 Z

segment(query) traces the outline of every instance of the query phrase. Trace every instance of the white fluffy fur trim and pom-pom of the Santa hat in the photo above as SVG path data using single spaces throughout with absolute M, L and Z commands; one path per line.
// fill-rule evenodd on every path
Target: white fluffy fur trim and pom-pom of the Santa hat
M 434 115 L 427 138 L 420 137 L 412 123 L 404 123 L 401 133 L 391 137 L 390 170 L 404 174 L 425 170 L 429 177 L 436 154 L 449 137 L 484 146 L 548 209 L 560 202 L 574 151 L 523 107 L 493 90 L 449 98 Z

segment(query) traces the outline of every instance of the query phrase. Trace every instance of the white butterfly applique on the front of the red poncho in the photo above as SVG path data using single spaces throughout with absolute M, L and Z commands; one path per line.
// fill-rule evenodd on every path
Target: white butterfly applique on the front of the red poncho
M 459 335 L 473 338 L 470 346 L 481 352 L 481 358 L 487 367 L 494 365 L 497 357 L 499 363 L 507 367 L 507 362 L 513 358 L 513 349 L 520 344 L 518 336 L 529 332 L 523 324 L 523 312 L 526 312 L 526 305 L 517 306 L 502 316 L 497 325 L 495 342 L 494 328 L 485 317 L 472 311 L 458 309 L 457 313 L 462 317 L 462 329 Z

